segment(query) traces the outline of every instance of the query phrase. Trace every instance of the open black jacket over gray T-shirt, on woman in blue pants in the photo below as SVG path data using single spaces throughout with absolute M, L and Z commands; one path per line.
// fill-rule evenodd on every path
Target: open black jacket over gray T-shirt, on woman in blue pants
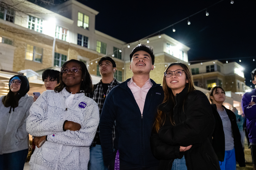
M 236 162 L 238 162 L 239 166 L 244 167 L 244 149 L 241 143 L 241 135 L 236 124 L 236 115 L 226 107 L 224 107 L 224 109 L 226 110 L 229 120 L 231 122 L 232 134 L 235 145 Z M 212 113 L 215 118 L 215 128 L 212 134 L 212 146 L 216 155 L 218 156 L 219 161 L 223 161 L 225 156 L 225 134 L 223 130 L 222 120 L 215 104 L 212 104 Z

